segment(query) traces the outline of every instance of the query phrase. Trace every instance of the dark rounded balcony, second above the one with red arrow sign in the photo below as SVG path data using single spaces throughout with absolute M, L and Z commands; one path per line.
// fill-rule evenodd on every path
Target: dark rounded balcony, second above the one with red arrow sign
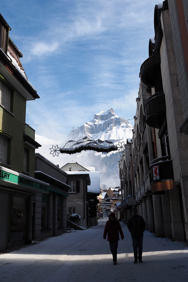
M 161 63 L 159 53 L 156 53 L 143 62 L 140 68 L 141 79 L 144 84 L 154 87 L 155 75 Z

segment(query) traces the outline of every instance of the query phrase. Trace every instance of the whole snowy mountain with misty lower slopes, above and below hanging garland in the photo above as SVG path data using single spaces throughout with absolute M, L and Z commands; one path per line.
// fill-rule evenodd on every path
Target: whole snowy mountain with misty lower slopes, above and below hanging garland
M 94 114 L 94 118 L 90 122 L 86 122 L 80 127 L 71 130 L 67 136 L 68 140 L 78 141 L 87 136 L 92 140 L 108 140 L 110 139 L 115 145 L 127 138 L 132 138 L 133 126 L 114 113 L 111 108 L 108 111 L 101 111 Z M 100 184 L 106 184 L 107 187 L 116 187 L 120 184 L 119 179 L 119 152 L 97 153 L 94 151 L 82 151 L 71 155 L 71 160 L 78 162 L 82 166 L 95 166 L 96 171 L 100 172 Z M 66 158 L 68 156 L 66 154 Z

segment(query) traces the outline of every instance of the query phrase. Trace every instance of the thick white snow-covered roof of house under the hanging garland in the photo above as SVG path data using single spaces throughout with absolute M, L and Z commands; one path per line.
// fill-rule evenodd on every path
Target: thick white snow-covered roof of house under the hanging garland
M 100 193 L 99 171 L 66 171 L 68 175 L 89 174 L 91 184 L 87 187 L 88 193 Z

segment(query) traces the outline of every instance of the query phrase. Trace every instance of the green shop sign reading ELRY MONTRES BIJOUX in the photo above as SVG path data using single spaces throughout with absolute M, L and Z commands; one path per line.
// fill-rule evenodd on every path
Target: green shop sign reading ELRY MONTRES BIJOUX
M 3 181 L 8 181 L 16 184 L 21 184 L 23 186 L 35 188 L 38 190 L 42 190 L 44 192 L 49 192 L 49 186 L 40 184 L 38 182 L 33 181 L 32 179 L 29 180 L 27 178 L 8 173 L 6 171 L 0 170 L 0 179 Z

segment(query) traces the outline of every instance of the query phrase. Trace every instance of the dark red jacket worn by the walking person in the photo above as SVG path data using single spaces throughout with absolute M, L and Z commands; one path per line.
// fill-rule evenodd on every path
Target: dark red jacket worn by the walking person
M 118 220 L 111 221 L 111 219 L 109 219 L 105 225 L 103 238 L 106 238 L 106 235 L 108 233 L 108 241 L 118 241 L 120 240 L 118 231 L 120 232 L 121 239 L 123 240 L 124 235 L 121 229 L 120 222 Z

